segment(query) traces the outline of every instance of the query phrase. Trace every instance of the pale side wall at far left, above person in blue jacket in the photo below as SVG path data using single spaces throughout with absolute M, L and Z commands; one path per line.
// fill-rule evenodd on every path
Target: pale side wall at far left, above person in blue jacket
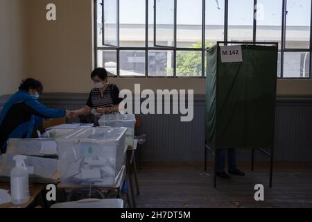
M 26 71 L 25 3 L 0 0 L 0 95 L 15 92 Z

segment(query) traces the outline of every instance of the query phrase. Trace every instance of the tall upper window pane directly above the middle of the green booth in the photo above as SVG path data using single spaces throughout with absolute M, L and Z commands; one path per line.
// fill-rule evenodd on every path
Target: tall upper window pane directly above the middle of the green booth
M 228 41 L 252 41 L 254 0 L 229 0 Z

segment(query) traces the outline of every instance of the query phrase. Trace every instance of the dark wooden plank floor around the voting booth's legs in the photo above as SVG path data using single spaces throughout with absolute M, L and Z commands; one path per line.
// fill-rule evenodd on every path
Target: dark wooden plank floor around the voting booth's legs
M 268 187 L 269 164 L 239 164 L 245 177 L 218 178 L 213 187 L 212 165 L 207 173 L 198 163 L 147 163 L 139 173 L 137 207 L 312 207 L 312 163 L 275 164 Z M 254 200 L 254 185 L 265 187 L 264 201 Z

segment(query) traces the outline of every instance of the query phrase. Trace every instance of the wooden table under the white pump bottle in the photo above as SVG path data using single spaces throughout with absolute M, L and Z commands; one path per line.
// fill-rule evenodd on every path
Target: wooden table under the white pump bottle
M 9 182 L 0 182 L 0 189 L 10 190 L 10 183 Z M 45 189 L 45 185 L 42 184 L 31 184 L 29 185 L 29 191 L 31 192 L 31 196 L 29 200 L 22 204 L 22 205 L 14 205 L 13 203 L 3 203 L 0 204 L 0 208 L 27 208 L 33 203 L 42 191 Z

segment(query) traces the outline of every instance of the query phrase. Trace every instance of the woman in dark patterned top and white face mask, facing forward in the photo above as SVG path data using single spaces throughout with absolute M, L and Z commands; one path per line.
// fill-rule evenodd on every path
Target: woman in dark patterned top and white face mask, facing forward
M 84 115 L 92 111 L 99 114 L 107 112 L 119 112 L 119 88 L 107 83 L 107 71 L 104 68 L 97 68 L 92 71 L 91 79 L 94 81 L 94 88 L 89 94 L 89 99 L 84 108 L 73 111 L 76 116 Z M 94 125 L 98 126 L 98 119 L 95 118 Z

